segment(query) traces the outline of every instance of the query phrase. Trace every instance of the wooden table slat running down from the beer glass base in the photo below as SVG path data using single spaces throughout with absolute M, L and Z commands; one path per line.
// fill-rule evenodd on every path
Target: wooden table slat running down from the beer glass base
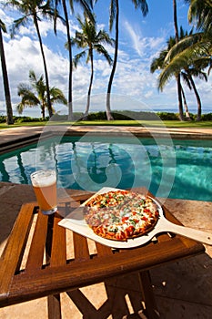
M 66 229 L 58 225 L 61 217 L 56 214 L 54 219 L 54 231 L 50 266 L 66 264 Z

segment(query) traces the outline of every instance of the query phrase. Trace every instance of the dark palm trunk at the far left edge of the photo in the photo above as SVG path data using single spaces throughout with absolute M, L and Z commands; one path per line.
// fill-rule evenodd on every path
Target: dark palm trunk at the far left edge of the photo
M 3 74 L 3 82 L 4 82 L 4 88 L 5 88 L 6 123 L 14 124 L 13 108 L 11 104 L 9 81 L 8 81 L 7 69 L 6 69 L 6 63 L 5 63 L 5 49 L 4 49 L 2 31 L 6 32 L 6 27 L 3 21 L 0 19 L 0 57 L 2 62 L 2 74 Z

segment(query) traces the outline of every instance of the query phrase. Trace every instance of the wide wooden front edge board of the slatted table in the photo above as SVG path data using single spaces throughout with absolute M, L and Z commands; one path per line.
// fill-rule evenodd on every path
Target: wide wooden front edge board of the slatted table
M 22 301 L 23 298 L 30 300 L 50 293 L 66 292 L 88 284 L 99 283 L 109 277 L 150 269 L 162 262 L 172 262 L 178 258 L 204 252 L 200 247 L 194 246 L 188 251 L 187 248 L 182 248 L 180 240 L 175 242 L 174 247 L 169 242 L 162 242 L 153 245 L 151 250 L 146 246 L 115 253 L 113 258 L 106 256 L 71 262 L 58 268 L 48 267 L 30 278 L 24 275 L 16 276 L 11 286 L 11 302 L 17 302 L 15 298 L 18 295 Z M 164 254 L 161 253 L 163 249 L 165 249 Z

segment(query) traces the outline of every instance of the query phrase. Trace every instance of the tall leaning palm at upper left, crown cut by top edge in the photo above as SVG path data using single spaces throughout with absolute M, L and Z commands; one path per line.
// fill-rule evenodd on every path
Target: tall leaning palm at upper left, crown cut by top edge
M 48 80 L 48 72 L 45 61 L 45 53 L 44 47 L 42 43 L 42 38 L 40 35 L 40 29 L 38 25 L 38 21 L 41 21 L 39 15 L 48 18 L 54 18 L 56 12 L 52 6 L 51 0 L 43 1 L 43 0 L 9 0 L 9 4 L 14 5 L 23 15 L 19 19 L 14 21 L 13 26 L 13 35 L 15 34 L 15 29 L 20 26 L 25 26 L 25 24 L 29 21 L 30 18 L 33 19 L 33 23 L 35 25 L 35 30 L 38 36 L 41 54 L 43 57 L 44 69 L 45 69 L 45 83 L 46 83 L 46 94 L 47 94 L 47 108 L 49 117 L 51 118 L 53 115 L 53 109 L 51 105 L 51 98 L 49 92 L 49 80 Z

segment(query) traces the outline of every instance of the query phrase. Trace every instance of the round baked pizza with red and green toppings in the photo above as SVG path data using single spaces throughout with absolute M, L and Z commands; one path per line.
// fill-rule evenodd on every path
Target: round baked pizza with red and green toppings
M 158 207 L 150 197 L 130 190 L 96 194 L 85 204 L 85 220 L 96 235 L 127 241 L 150 232 L 156 225 Z

